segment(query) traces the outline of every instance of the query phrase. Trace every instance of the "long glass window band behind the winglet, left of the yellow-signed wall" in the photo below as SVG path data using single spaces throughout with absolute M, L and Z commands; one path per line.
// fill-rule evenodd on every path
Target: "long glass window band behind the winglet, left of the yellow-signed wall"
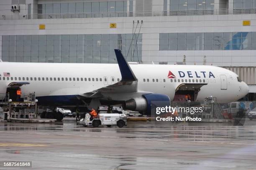
M 141 61 L 142 34 L 2 35 L 2 60 L 10 62 L 115 63 L 114 49 Z

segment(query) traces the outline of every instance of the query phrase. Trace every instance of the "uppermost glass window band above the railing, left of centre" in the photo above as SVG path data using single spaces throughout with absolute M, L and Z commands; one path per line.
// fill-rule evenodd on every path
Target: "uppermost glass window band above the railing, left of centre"
M 131 0 L 130 0 L 131 3 Z M 132 4 L 132 3 L 131 3 Z M 130 10 L 132 8 L 130 7 Z M 38 4 L 38 14 L 127 12 L 127 1 Z

